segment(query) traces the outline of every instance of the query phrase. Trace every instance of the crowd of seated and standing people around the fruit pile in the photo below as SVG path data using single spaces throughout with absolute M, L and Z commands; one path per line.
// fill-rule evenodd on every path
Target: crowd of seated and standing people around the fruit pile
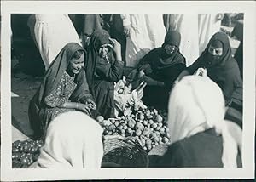
M 149 167 L 241 167 L 242 121 L 225 118 L 242 111 L 242 79 L 223 16 L 32 14 L 45 65 L 28 111 L 44 139 L 38 168 L 101 168 L 93 118 L 117 117 L 115 88 L 127 83 L 144 105 L 168 111 L 170 145 Z

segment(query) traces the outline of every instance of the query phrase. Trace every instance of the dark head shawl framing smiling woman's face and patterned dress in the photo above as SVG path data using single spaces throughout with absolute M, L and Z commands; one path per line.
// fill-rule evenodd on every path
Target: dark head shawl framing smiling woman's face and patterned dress
M 55 60 L 49 66 L 49 69 L 45 72 L 43 82 L 30 101 L 29 117 L 31 122 L 39 121 L 39 111 L 46 106 L 44 104 L 44 98 L 57 88 L 58 84 L 61 82 L 61 77 L 64 72 L 67 71 L 67 67 L 70 64 L 70 60 L 73 58 L 73 54 L 77 51 L 83 51 L 84 58 L 86 58 L 84 48 L 78 43 L 68 43 L 61 49 L 61 52 L 56 56 Z M 84 97 L 91 97 L 84 69 L 79 71 L 74 82 L 77 84 L 77 87 L 70 97 L 71 101 L 79 102 L 81 99 L 84 99 Z

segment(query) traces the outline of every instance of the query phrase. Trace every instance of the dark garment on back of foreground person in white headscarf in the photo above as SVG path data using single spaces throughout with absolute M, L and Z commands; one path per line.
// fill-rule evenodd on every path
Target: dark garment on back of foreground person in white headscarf
M 223 139 L 214 129 L 208 129 L 170 145 L 164 156 L 154 157 L 150 167 L 161 168 L 221 168 Z M 149 158 L 150 160 L 150 158 Z M 241 167 L 241 156 L 237 156 Z

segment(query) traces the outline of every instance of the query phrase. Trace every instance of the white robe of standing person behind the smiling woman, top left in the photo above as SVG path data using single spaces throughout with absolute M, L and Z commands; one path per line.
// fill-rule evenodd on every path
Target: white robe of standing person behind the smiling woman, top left
M 45 70 L 67 43 L 82 45 L 67 14 L 35 14 L 33 31 Z

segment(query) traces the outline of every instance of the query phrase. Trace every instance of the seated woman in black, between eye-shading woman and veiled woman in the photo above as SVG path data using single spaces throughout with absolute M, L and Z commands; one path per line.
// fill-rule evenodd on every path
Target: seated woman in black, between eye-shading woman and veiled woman
M 141 80 L 147 82 L 147 87 L 143 89 L 145 105 L 167 109 L 172 83 L 186 68 L 185 58 L 179 52 L 180 40 L 178 31 L 168 31 L 162 47 L 154 48 L 140 61 L 138 71 L 143 71 Z

